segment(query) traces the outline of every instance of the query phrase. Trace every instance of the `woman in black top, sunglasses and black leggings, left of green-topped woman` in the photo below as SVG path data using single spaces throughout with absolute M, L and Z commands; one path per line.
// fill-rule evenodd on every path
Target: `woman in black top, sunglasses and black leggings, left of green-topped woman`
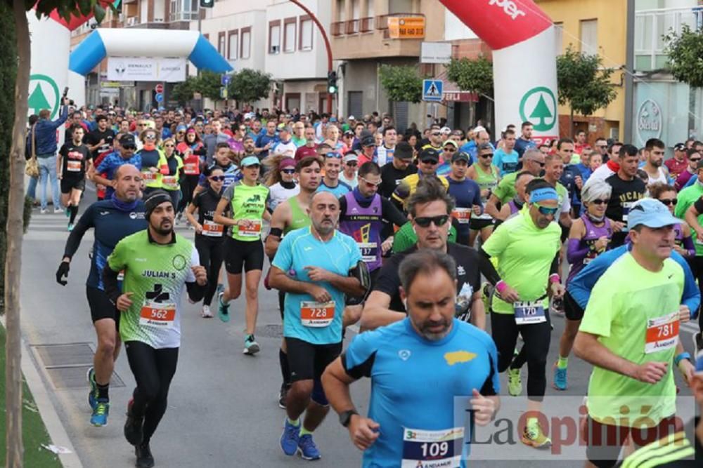
M 186 218 L 195 227 L 195 248 L 200 255 L 200 265 L 207 270 L 207 288 L 202 298 L 201 316 L 209 319 L 212 317 L 210 304 L 217 290 L 219 271 L 224 260 L 224 226 L 214 222 L 214 214 L 220 201 L 225 175 L 217 166 L 205 169 L 203 174 L 207 177 L 207 189 L 193 197 L 186 208 Z M 195 220 L 196 210 L 198 220 Z

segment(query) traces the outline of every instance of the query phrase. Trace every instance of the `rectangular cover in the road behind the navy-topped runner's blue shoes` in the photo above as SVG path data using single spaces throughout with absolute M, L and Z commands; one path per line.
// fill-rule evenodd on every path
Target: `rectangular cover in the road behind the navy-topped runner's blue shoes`
M 90 343 L 33 345 L 34 353 L 46 369 L 55 389 L 87 388 L 86 374 L 93 366 L 93 348 Z M 112 373 L 111 387 L 124 387 L 117 373 Z

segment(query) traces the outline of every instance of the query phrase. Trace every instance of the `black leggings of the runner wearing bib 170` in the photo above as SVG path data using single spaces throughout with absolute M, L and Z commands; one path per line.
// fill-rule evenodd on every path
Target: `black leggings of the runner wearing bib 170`
M 546 322 L 517 325 L 515 315 L 491 311 L 491 330 L 498 348 L 498 372 L 504 372 L 512 363 L 517 334 L 520 333 L 524 341 L 520 353 L 524 353 L 527 361 L 527 398 L 532 401 L 542 401 L 547 387 L 547 354 L 552 329 L 548 310 L 544 314 Z

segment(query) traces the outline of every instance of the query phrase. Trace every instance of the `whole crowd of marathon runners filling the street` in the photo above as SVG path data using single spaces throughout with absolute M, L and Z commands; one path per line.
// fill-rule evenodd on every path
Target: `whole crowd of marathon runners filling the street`
M 703 326 L 703 142 L 677 143 L 665 161 L 657 139 L 591 147 L 579 132 L 538 145 L 527 121 L 491 141 L 482 125 L 401 133 L 386 114 L 295 109 L 98 107 L 61 119 L 54 204 L 70 235 L 56 279 L 66 284 L 93 229 L 90 422 L 107 424 L 124 342 L 136 380 L 124 436 L 137 467 L 154 465 L 184 290 L 204 319 L 223 322 L 243 295 L 243 352 L 254 356 L 273 352 L 254 336 L 262 281 L 283 321 L 286 455 L 321 457 L 313 435 L 331 406 L 365 467 L 463 467 L 473 429 L 455 427 L 454 397 L 483 426 L 499 396 L 523 393 L 522 443 L 548 448 L 546 387 L 569 388 L 573 349 L 593 366 L 586 466 L 703 466 L 703 422 L 680 432 L 676 422 L 695 415 L 676 412 L 673 378 L 676 368 L 703 405 L 703 356 L 696 364 L 679 339 L 681 323 Z M 79 216 L 86 180 L 98 201 Z M 548 356 L 555 314 L 566 326 Z M 349 393 L 361 377 L 371 379 L 368 415 Z M 643 401 L 648 427 L 621 417 Z

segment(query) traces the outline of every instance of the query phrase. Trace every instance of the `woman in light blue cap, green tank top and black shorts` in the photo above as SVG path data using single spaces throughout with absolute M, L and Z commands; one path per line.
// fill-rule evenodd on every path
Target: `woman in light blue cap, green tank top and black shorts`
M 215 210 L 214 222 L 231 226 L 232 235 L 225 241 L 225 269 L 228 288 L 219 293 L 219 318 L 229 321 L 229 301 L 242 293 L 242 269 L 245 272 L 246 323 L 244 353 L 259 352 L 254 338 L 259 313 L 259 281 L 264 268 L 262 225 L 270 221 L 266 210 L 269 188 L 259 184 L 261 163 L 257 156 L 247 156 L 240 162 L 244 178 L 230 185 L 222 194 Z M 224 215 L 231 211 L 231 218 Z

